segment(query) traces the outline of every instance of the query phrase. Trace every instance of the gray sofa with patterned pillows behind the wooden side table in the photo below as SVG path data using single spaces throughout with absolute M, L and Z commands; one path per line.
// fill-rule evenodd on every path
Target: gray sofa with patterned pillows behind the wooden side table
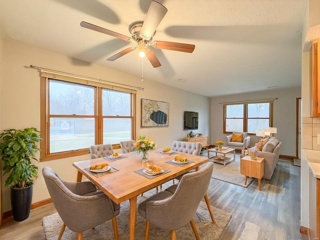
M 256 145 L 257 143 L 255 143 L 255 146 L 248 149 L 253 150 L 256 148 Z M 258 151 L 258 157 L 264 158 L 264 178 L 266 183 L 269 183 L 274 168 L 276 167 L 276 164 L 278 164 L 280 146 L 281 142 L 276 137 L 271 137 L 265 142 L 262 150 Z

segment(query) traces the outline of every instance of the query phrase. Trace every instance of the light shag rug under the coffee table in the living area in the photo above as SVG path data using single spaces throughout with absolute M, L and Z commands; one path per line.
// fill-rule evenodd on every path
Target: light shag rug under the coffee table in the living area
M 244 184 L 244 175 L 240 174 L 239 154 L 235 154 L 235 161 L 231 161 L 225 166 L 223 164 L 214 162 L 211 177 L 243 187 L 247 187 L 254 180 L 254 178 L 247 177 L 246 184 Z

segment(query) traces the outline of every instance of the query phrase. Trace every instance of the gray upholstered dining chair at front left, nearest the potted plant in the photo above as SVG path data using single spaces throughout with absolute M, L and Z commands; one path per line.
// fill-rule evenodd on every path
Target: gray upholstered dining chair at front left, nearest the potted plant
M 42 174 L 52 202 L 63 225 L 58 237 L 61 239 L 65 226 L 77 232 L 77 240 L 82 239 L 83 231 L 112 219 L 114 238 L 118 231 L 116 216 L 120 205 L 114 203 L 90 181 L 73 182 L 61 179 L 50 167 L 43 167 Z

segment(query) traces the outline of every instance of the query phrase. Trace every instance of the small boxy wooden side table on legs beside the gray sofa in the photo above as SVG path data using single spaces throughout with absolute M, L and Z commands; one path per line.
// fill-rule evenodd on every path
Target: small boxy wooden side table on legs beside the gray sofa
M 243 174 L 244 184 L 248 176 L 258 179 L 259 190 L 261 190 L 261 178 L 264 175 L 264 158 L 257 157 L 256 159 L 250 159 L 250 156 L 243 156 L 240 159 L 240 173 Z

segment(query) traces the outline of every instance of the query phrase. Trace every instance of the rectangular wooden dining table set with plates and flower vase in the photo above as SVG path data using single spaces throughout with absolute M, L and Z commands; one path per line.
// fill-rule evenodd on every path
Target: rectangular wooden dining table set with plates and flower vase
M 141 162 L 140 155 L 136 152 L 122 153 L 121 158 L 109 161 L 105 158 L 94 158 L 83 161 L 73 162 L 73 166 L 77 169 L 77 181 L 81 181 L 82 175 L 86 176 L 92 181 L 100 190 L 109 196 L 114 202 L 120 203 L 122 201 L 130 201 L 129 212 L 129 239 L 134 239 L 135 217 L 136 217 L 136 200 L 137 196 L 153 187 L 156 187 L 164 182 L 174 179 L 191 169 L 199 169 L 199 166 L 208 161 L 207 157 L 178 152 L 177 154 L 163 154 L 159 153 L 160 149 L 149 150 L 149 157 L 147 162 Z M 174 156 L 186 157 L 189 164 L 172 165 L 167 163 L 171 161 Z M 124 157 L 125 156 L 125 157 Z M 92 172 L 85 168 L 91 165 L 108 163 L 110 167 L 116 171 L 104 174 L 102 176 L 95 176 Z M 159 174 L 156 177 L 149 179 L 135 171 L 141 170 L 147 165 L 156 165 L 168 172 Z M 207 196 L 205 198 L 207 200 Z M 208 202 L 207 202 L 208 204 Z M 213 217 L 213 216 L 212 216 Z M 212 218 L 213 220 L 213 218 Z

